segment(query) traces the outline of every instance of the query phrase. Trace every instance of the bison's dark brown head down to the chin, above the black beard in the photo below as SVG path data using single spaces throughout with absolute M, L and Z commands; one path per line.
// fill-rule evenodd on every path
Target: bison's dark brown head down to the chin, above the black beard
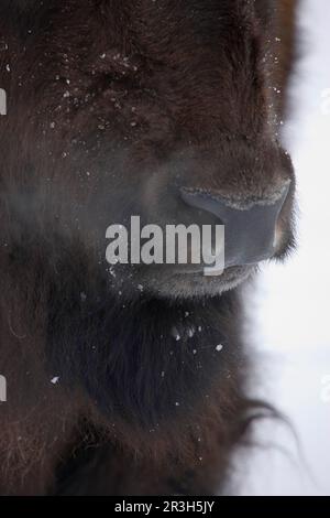
M 89 279 L 129 299 L 141 287 L 219 294 L 285 256 L 295 182 L 278 142 L 272 2 L 14 0 L 0 11 L 1 195 L 18 247 L 29 240 L 54 271 L 79 258 Z M 224 273 L 122 265 L 110 274 L 106 230 L 132 215 L 224 224 Z

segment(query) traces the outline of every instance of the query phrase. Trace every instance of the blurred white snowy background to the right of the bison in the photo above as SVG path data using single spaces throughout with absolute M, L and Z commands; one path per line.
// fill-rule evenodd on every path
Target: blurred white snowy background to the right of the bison
M 261 425 L 262 447 L 238 462 L 241 495 L 330 495 L 329 22 L 329 0 L 302 0 L 286 128 L 298 180 L 299 247 L 286 265 L 265 266 L 251 307 L 262 365 L 254 393 L 288 417 L 298 442 L 284 425 Z

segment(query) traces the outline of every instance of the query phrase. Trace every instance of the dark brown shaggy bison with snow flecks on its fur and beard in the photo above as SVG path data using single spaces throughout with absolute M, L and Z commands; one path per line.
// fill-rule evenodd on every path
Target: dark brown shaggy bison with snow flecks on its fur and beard
M 0 494 L 229 490 L 272 413 L 240 285 L 294 246 L 295 10 L 1 0 Z M 224 220 L 231 261 L 111 269 L 106 229 L 131 215 Z

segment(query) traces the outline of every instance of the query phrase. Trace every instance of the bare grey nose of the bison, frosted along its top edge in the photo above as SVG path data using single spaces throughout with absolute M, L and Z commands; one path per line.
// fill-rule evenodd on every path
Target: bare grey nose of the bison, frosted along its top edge
M 255 265 L 276 251 L 276 227 L 289 184 L 287 181 L 262 198 L 234 198 L 194 188 L 182 188 L 182 197 L 190 207 L 211 213 L 219 225 L 224 225 L 226 268 Z

